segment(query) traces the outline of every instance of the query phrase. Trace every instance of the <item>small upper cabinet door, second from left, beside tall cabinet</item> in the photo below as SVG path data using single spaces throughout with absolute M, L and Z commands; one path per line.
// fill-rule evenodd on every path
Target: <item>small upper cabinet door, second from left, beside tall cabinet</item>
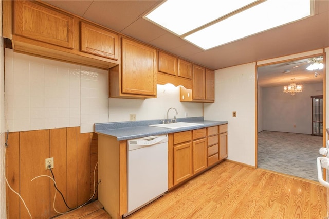
M 80 22 L 81 51 L 118 60 L 118 34 Z

